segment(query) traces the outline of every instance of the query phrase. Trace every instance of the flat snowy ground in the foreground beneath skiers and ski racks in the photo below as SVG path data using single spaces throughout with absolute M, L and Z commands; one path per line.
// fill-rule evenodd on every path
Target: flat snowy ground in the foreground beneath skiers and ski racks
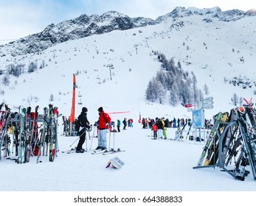
M 175 130 L 167 129 L 168 138 L 174 138 Z M 114 138 L 115 149 L 125 152 L 108 155 L 62 153 L 70 149 L 77 137 L 58 135 L 60 152 L 53 163 L 44 156 L 38 164 L 36 157 L 31 157 L 27 164 L 1 160 L 0 172 L 5 178 L 1 180 L 0 191 L 255 191 L 252 175 L 241 182 L 219 168 L 193 169 L 204 143 L 151 140 L 150 135 L 150 129 L 142 129 L 136 123 L 115 136 L 111 133 L 111 147 Z M 107 137 L 109 145 L 109 133 Z M 76 145 L 77 141 L 72 147 Z M 89 149 L 91 140 L 87 146 Z M 96 147 L 94 138 L 91 149 Z M 105 168 L 114 157 L 125 165 L 119 170 Z M 16 175 L 17 170 L 22 178 Z

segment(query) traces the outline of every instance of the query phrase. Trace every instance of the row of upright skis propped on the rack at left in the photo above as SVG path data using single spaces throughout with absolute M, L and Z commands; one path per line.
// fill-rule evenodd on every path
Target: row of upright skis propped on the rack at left
M 2 108 L 5 107 L 5 110 Z M 58 152 L 58 107 L 44 107 L 44 114 L 38 114 L 31 107 L 21 108 L 11 113 L 7 104 L 0 104 L 0 160 L 15 160 L 16 163 L 29 163 L 30 157 L 49 154 L 53 162 Z M 38 126 L 41 123 L 41 126 Z M 11 138 L 13 137 L 13 138 Z M 13 147 L 11 152 L 11 147 Z M 15 157 L 13 150 L 15 149 Z M 3 154 L 2 154 L 3 153 Z

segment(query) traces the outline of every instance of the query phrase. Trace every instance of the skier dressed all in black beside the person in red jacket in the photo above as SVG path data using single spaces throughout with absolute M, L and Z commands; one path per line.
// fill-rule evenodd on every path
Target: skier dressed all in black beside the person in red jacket
M 86 128 L 90 128 L 90 123 L 87 119 L 87 108 L 83 107 L 82 112 L 77 118 L 77 124 L 76 124 L 76 132 L 78 132 L 78 135 L 80 136 L 79 142 L 77 144 L 77 153 L 83 153 L 85 152 L 85 149 L 83 149 L 83 143 L 86 141 Z M 80 129 L 82 127 L 82 129 Z

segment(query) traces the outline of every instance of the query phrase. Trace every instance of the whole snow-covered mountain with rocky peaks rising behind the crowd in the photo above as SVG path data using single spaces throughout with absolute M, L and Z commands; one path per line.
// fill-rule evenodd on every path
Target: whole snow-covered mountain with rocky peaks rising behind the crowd
M 7 102 L 13 108 L 52 102 L 59 105 L 61 113 L 69 116 L 72 74 L 76 74 L 77 93 L 82 94 L 77 102 L 83 102 L 82 105 L 86 104 L 92 111 L 97 111 L 101 105 L 107 111 L 130 111 L 130 116 L 138 116 L 139 112 L 170 118 L 190 116 L 191 113 L 183 107 L 170 107 L 169 92 L 162 104 L 145 99 L 148 82 L 162 69 L 156 55 L 159 53 L 165 54 L 168 60 L 172 58 L 175 65 L 179 62 L 185 72 L 191 74 L 193 71 L 198 88 L 202 90 L 204 85 L 208 86 L 208 95 L 214 98 L 214 108 L 206 111 L 208 118 L 220 110 L 230 110 L 234 106 L 231 101 L 234 93 L 239 98 L 255 96 L 256 79 L 252 68 L 256 55 L 256 17 L 240 13 L 240 19 L 221 21 L 223 18 L 218 18 L 216 13 L 228 17 L 239 12 L 224 13 L 218 7 L 204 10 L 180 7 L 173 11 L 173 15 L 178 11 L 187 16 L 173 18 L 170 15 L 158 20 L 158 24 L 145 18 L 134 18 L 136 23 L 133 25 L 144 22 L 148 26 L 114 29 L 78 38 L 84 35 L 81 28 L 91 25 L 92 19 L 104 28 L 109 25 L 112 29 L 120 28 L 121 24 L 116 21 L 120 18 L 125 22 L 122 28 L 131 26 L 126 15 L 120 13 L 81 15 L 72 21 L 47 26 L 40 34 L 1 46 L 0 102 Z M 47 36 L 46 31 L 58 39 L 55 45 L 47 38 L 36 40 L 38 35 Z M 68 35 L 71 40 L 62 39 L 63 42 L 58 43 L 60 34 Z M 42 46 L 46 49 L 25 52 L 34 44 L 35 48 Z M 18 65 L 18 74 L 13 72 L 15 65 Z M 35 69 L 31 69 L 31 65 Z M 76 113 L 80 113 L 81 107 L 77 105 Z

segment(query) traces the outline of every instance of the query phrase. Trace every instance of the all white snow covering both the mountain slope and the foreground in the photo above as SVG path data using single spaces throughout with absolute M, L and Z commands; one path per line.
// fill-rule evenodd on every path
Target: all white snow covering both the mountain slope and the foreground
M 39 113 L 43 113 L 44 107 L 51 103 L 63 116 L 69 116 L 72 74 L 78 71 L 77 94 L 82 94 L 83 104 L 76 104 L 76 116 L 82 107 L 87 107 L 89 121 L 93 124 L 97 121 L 98 107 L 102 106 L 107 113 L 129 111 L 113 114 L 111 118 L 113 121 L 133 118 L 134 128 L 115 136 L 116 148 L 125 152 L 107 156 L 90 152 L 65 154 L 61 151 L 69 149 L 77 137 L 61 135 L 63 128 L 59 118 L 60 152 L 55 162 L 49 163 L 47 157 L 42 157 L 42 163 L 38 164 L 35 157 L 21 165 L 1 160 L 0 174 L 4 174 L 4 178 L 1 178 L 0 191 L 255 191 L 252 174 L 241 182 L 219 168 L 193 169 L 204 143 L 152 141 L 148 137 L 151 131 L 137 123 L 139 113 L 145 118 L 192 118 L 184 107 L 170 107 L 168 96 L 164 104 L 145 100 L 148 82 L 160 68 L 152 51 L 160 51 L 168 59 L 175 57 L 176 63 L 180 60 L 184 71 L 196 74 L 199 88 L 207 83 L 214 108 L 206 110 L 206 118 L 232 109 L 230 99 L 234 93 L 246 98 L 253 96 L 255 88 L 243 90 L 225 84 L 224 77 L 246 75 L 255 79 L 252 69 L 255 65 L 255 17 L 229 22 L 212 18 L 212 23 L 202 21 L 206 17 L 211 18 L 211 15 L 178 18 L 177 21 L 184 21 L 184 26 L 172 30 L 173 19 L 167 18 L 162 24 L 70 40 L 38 54 L 1 57 L 1 68 L 10 63 L 24 63 L 27 68 L 36 60 L 38 67 L 42 60 L 47 64 L 32 74 L 10 77 L 8 86 L 1 84 L 4 95 L 0 96 L 0 102 L 6 102 L 12 111 L 19 105 L 31 106 L 33 110 L 38 104 Z M 190 49 L 187 50 L 187 46 Z M 242 56 L 244 63 L 240 61 Z M 114 65 L 112 80 L 109 64 Z M 50 94 L 55 98 L 53 102 L 49 102 Z M 175 129 L 167 129 L 167 134 L 168 138 L 174 138 Z M 92 148 L 96 146 L 97 139 L 94 139 Z M 124 161 L 125 166 L 120 170 L 105 168 L 108 160 L 115 156 Z

